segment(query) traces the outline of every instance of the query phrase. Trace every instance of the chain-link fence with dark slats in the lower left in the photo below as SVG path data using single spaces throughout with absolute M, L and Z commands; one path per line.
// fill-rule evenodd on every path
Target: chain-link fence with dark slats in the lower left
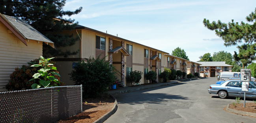
M 82 112 L 82 85 L 0 93 L 0 123 L 53 123 Z

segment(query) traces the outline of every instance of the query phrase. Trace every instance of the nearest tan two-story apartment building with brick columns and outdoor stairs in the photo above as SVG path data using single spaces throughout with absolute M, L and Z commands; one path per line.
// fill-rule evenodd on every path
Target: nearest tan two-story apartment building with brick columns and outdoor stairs
M 72 33 L 80 37 L 80 41 L 77 41 L 75 45 L 62 48 L 62 50 L 79 50 L 78 54 L 67 58 L 56 56 L 54 59 L 55 66 L 61 75 L 60 80 L 66 85 L 73 85 L 73 82 L 69 80 L 73 64 L 90 57 L 105 57 L 105 60 L 115 67 L 115 72 L 119 76 L 117 78 L 123 86 L 130 86 L 125 78 L 131 71 L 142 71 L 140 84 L 149 82 L 144 78 L 148 71 L 155 71 L 158 75 L 164 71 L 166 60 L 163 55 L 168 54 L 167 52 L 81 25 L 78 25 L 72 32 L 63 33 Z

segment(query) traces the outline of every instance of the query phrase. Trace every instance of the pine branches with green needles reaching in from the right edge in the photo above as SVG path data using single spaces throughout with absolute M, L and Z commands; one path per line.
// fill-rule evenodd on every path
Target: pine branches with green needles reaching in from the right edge
M 245 22 L 228 22 L 228 24 L 221 22 L 209 22 L 209 20 L 204 19 L 204 26 L 209 30 L 215 30 L 215 34 L 224 40 L 224 45 L 236 46 L 239 49 L 239 53 L 235 52 L 234 60 L 240 61 L 244 66 L 252 63 L 255 60 L 256 54 L 256 9 L 254 12 L 250 13 L 246 17 L 248 22 L 253 24 L 248 24 Z M 243 43 L 238 46 L 238 43 Z

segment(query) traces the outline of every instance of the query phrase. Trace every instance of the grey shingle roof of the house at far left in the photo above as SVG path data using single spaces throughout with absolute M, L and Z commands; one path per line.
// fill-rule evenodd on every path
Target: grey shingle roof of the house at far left
M 4 17 L 22 34 L 26 39 L 32 39 L 36 41 L 43 41 L 45 43 L 53 42 L 45 37 L 45 35 L 38 32 L 35 28 L 27 24 L 22 19 L 17 19 L 15 17 L 11 17 L 8 15 L 4 15 Z

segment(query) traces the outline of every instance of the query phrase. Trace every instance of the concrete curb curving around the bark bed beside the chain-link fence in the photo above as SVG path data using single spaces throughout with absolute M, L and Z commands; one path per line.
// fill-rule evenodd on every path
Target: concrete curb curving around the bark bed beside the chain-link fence
M 111 95 L 111 94 L 110 94 Z M 117 110 L 117 100 L 116 100 L 116 98 L 113 96 L 113 95 L 111 95 L 111 97 L 115 100 L 115 102 L 114 102 L 114 106 L 113 106 L 113 108 L 111 109 L 111 111 L 109 111 L 109 112 L 107 112 L 106 114 L 104 114 L 103 116 L 101 116 L 99 119 L 97 119 L 97 120 L 95 120 L 93 123 L 103 123 L 105 120 L 107 120 L 108 119 L 108 117 L 110 117 L 110 116 L 112 116 L 112 114 L 114 114 L 115 112 L 116 112 L 116 110 Z

